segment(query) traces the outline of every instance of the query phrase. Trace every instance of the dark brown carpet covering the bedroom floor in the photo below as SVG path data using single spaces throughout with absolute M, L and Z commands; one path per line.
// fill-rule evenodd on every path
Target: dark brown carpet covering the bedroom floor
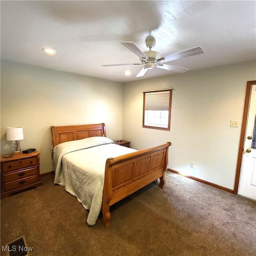
M 34 256 L 255 256 L 256 202 L 166 172 L 111 208 L 111 224 L 86 224 L 88 212 L 53 184 L 1 200 L 2 245 L 24 235 Z M 6 255 L 6 252 L 1 252 Z

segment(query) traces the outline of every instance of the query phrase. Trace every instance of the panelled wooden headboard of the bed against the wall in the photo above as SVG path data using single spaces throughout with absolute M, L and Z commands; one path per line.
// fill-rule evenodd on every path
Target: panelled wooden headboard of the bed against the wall
M 81 140 L 93 136 L 105 136 L 105 124 L 83 124 L 70 126 L 51 126 L 53 146 L 71 140 Z

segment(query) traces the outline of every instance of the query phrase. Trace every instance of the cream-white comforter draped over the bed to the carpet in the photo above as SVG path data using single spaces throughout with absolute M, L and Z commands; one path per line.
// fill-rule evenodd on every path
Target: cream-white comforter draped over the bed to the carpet
M 106 160 L 135 151 L 100 136 L 64 142 L 54 148 L 54 183 L 65 186 L 90 210 L 88 225 L 94 225 L 100 213 Z

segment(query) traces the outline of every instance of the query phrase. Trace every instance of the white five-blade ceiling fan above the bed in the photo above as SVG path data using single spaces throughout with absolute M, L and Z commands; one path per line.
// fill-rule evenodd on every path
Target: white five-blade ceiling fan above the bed
M 129 50 L 135 53 L 137 56 L 140 57 L 140 63 L 128 63 L 128 64 L 109 64 L 109 65 L 102 65 L 104 67 L 110 66 L 125 66 L 125 65 L 144 65 L 142 70 L 136 75 L 136 77 L 144 76 L 146 72 L 154 67 L 162 68 L 166 70 L 170 70 L 177 73 L 184 73 L 188 71 L 188 68 L 180 68 L 176 66 L 171 66 L 167 64 L 163 64 L 164 62 L 168 62 L 170 60 L 177 60 L 184 57 L 194 56 L 198 54 L 204 53 L 204 50 L 201 46 L 197 46 L 194 48 L 190 48 L 187 50 L 183 50 L 181 52 L 172 53 L 168 56 L 161 57 L 159 52 L 152 51 L 152 48 L 156 45 L 156 40 L 153 36 L 147 36 L 146 46 L 149 48 L 148 51 L 142 52 L 134 42 L 121 42 L 124 46 L 126 46 Z

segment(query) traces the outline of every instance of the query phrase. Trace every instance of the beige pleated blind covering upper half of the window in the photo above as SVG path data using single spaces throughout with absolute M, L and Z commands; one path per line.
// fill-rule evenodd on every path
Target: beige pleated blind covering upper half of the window
M 170 91 L 145 92 L 145 110 L 169 110 Z

